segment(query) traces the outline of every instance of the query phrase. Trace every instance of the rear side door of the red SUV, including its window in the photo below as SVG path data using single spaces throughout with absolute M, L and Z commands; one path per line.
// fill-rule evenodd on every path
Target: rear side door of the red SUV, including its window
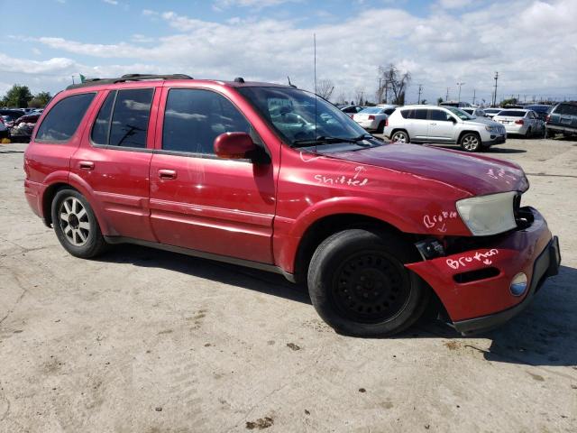
M 155 241 L 149 218 L 154 87 L 110 90 L 71 160 L 96 198 L 110 235 Z

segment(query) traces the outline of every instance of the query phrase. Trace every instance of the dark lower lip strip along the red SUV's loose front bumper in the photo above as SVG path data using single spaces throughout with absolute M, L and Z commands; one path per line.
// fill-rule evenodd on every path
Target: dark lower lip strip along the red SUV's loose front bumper
M 463 334 L 463 336 L 477 334 L 499 327 L 527 308 L 535 297 L 537 290 L 539 290 L 545 282 L 545 279 L 559 273 L 559 263 L 561 263 L 559 240 L 557 236 L 554 236 L 535 261 L 531 285 L 529 286 L 525 299 L 515 307 L 490 314 L 489 316 L 456 321 L 453 323 L 453 327 Z

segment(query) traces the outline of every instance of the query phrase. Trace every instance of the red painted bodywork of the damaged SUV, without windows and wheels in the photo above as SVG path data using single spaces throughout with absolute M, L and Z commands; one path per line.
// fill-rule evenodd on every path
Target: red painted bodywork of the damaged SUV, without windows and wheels
M 38 124 L 63 97 L 97 96 L 68 143 L 37 143 L 32 134 L 24 156 L 25 197 L 36 214 L 47 217 L 46 191 L 56 183 L 69 184 L 87 197 L 105 235 L 275 264 L 290 273 L 303 236 L 321 218 L 372 217 L 415 239 L 471 236 L 458 216 L 457 200 L 528 188 L 514 163 L 427 146 L 388 144 L 330 156 L 300 152 L 280 142 L 237 86 L 242 85 L 169 80 L 61 92 Z M 90 143 L 98 109 L 115 88 L 155 88 L 144 152 Z M 260 135 L 270 163 L 157 152 L 169 88 L 205 88 L 228 98 Z M 250 145 L 246 136 L 228 134 L 217 140 L 217 148 L 226 158 L 238 158 Z M 498 236 L 490 248 L 411 263 L 408 269 L 431 285 L 453 320 L 474 318 L 522 300 L 509 294 L 508 285 L 517 272 L 530 278 L 536 255 L 550 238 L 545 220 L 536 214 L 530 230 Z M 489 254 L 491 249 L 498 253 Z M 475 254 L 489 255 L 477 260 Z M 467 271 L 488 266 L 483 261 L 490 259 L 499 275 L 458 284 L 453 276 L 463 269 L 453 269 L 447 260 L 461 263 L 460 258 Z

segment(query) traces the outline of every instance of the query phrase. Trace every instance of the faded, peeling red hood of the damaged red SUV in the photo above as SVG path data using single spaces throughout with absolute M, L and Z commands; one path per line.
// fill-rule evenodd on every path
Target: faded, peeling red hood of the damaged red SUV
M 529 188 L 525 173 L 513 162 L 436 147 L 390 143 L 330 156 L 437 180 L 472 196 Z

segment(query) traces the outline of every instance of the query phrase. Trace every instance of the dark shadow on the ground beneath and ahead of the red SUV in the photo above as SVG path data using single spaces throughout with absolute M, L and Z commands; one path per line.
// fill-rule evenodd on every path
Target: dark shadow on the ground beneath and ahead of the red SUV
M 100 262 L 132 263 L 143 268 L 182 272 L 197 278 L 255 290 L 267 295 L 311 305 L 308 290 L 282 275 L 190 257 L 179 253 L 132 244 L 118 244 Z M 461 336 L 440 320 L 421 319 L 417 325 L 393 336 L 398 339 L 442 338 L 470 346 L 488 361 L 527 365 L 577 365 L 577 269 L 561 266 L 559 275 L 545 281 L 531 305 L 496 330 L 476 336 Z M 474 344 L 490 339 L 488 350 Z

